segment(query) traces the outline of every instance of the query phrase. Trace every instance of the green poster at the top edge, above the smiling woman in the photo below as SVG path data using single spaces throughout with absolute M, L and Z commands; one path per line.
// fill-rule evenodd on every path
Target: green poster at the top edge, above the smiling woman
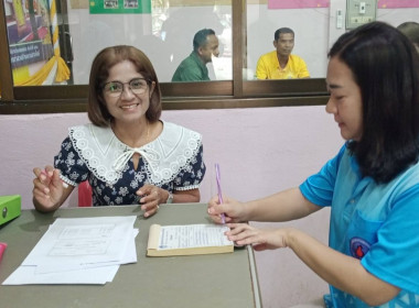
M 90 0 L 90 14 L 151 14 L 151 0 Z

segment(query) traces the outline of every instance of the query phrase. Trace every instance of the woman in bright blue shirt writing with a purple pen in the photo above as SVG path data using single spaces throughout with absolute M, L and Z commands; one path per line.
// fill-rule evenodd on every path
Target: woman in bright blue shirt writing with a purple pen
M 419 56 L 395 28 L 373 22 L 329 53 L 326 112 L 346 143 L 300 187 L 249 202 L 214 197 L 208 213 L 257 251 L 289 248 L 330 285 L 326 307 L 419 307 Z M 330 243 L 282 228 L 331 207 Z

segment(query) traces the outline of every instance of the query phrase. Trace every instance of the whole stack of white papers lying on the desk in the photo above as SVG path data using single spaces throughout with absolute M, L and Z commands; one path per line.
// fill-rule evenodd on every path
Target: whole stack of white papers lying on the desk
M 106 284 L 136 263 L 136 216 L 58 218 L 3 285 Z

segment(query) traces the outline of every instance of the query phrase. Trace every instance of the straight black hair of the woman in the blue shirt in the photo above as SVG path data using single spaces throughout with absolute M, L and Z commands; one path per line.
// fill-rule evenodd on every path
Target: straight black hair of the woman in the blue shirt
M 372 22 L 343 34 L 329 57 L 345 63 L 363 100 L 363 135 L 350 141 L 363 176 L 388 183 L 419 157 L 419 56 L 391 25 Z

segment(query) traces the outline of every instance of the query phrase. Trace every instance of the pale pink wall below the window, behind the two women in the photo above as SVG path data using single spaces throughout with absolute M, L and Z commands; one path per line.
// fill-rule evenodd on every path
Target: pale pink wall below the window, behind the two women
M 224 194 L 248 200 L 299 185 L 343 144 L 324 107 L 179 110 L 164 111 L 162 119 L 203 134 L 204 202 L 216 193 L 215 162 L 221 164 Z M 67 128 L 85 122 L 84 113 L 0 116 L 0 195 L 19 194 L 22 208 L 33 208 L 33 167 L 52 164 Z M 76 200 L 72 196 L 69 206 Z M 327 241 L 327 210 L 291 224 Z M 289 307 L 326 292 L 288 250 L 256 253 L 256 260 L 264 307 Z

